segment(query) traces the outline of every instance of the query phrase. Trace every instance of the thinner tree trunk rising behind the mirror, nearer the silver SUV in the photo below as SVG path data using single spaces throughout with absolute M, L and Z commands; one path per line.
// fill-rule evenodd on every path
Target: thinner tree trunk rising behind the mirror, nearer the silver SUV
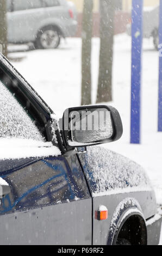
M 84 0 L 82 32 L 82 105 L 91 104 L 91 38 L 93 0 Z

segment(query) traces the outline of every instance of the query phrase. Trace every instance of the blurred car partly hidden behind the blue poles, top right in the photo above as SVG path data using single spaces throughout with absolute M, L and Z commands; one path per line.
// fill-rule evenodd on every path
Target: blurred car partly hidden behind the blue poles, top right
M 159 5 L 154 8 L 144 9 L 144 38 L 153 36 L 155 49 L 158 50 L 159 45 Z M 127 33 L 131 35 L 131 23 L 127 25 Z

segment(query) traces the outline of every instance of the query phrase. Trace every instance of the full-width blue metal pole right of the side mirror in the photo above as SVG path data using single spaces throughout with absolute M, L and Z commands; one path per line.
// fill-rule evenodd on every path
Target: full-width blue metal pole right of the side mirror
M 140 143 L 141 61 L 143 37 L 143 0 L 132 1 L 132 81 L 130 143 Z

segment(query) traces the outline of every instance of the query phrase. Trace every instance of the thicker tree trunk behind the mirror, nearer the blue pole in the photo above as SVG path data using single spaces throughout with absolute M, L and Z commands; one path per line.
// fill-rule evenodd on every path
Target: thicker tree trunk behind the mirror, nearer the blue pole
M 97 103 L 112 100 L 114 0 L 100 0 L 100 56 Z

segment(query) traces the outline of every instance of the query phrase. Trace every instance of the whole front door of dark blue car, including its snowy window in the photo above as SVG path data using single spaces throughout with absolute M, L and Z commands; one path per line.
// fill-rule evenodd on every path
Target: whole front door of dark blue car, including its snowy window
M 0 176 L 11 191 L 1 199 L 0 243 L 90 245 L 92 199 L 78 157 L 47 142 L 32 99 L 23 106 L 28 89 L 21 94 L 22 80 L 4 70 L 0 62 Z

